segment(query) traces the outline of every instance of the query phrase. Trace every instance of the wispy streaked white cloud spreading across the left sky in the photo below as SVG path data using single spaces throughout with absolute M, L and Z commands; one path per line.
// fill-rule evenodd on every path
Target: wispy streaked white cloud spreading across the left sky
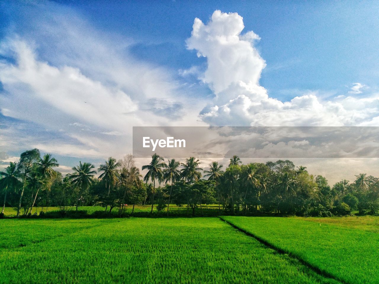
M 25 6 L 19 13 L 28 15 L 14 25 L 19 35 L 10 30 L 0 43 L 0 54 L 10 59 L 0 61 L 0 111 L 18 119 L 0 128 L 3 150 L 35 145 L 53 154 L 107 158 L 132 151 L 132 126 L 204 125 L 193 115 L 202 100 L 186 98 L 175 70 L 130 56 L 132 40 L 93 29 L 66 6 Z M 25 121 L 31 127 L 19 127 Z

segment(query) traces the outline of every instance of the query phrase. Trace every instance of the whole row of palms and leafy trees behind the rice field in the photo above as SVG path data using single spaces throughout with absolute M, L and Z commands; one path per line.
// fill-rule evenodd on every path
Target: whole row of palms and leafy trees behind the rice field
M 72 206 L 78 211 L 95 205 L 122 216 L 127 204 L 133 204 L 132 214 L 135 204 L 151 204 L 153 214 L 155 204 L 167 215 L 170 204 L 186 207 L 188 215 L 195 215 L 196 208 L 202 214 L 202 204 L 218 204 L 215 210 L 232 215 L 327 217 L 379 211 L 379 178 L 361 173 L 351 183 L 343 179 L 330 187 L 323 176 L 311 175 L 289 160 L 242 164 L 233 156 L 227 167 L 211 162 L 203 170 L 194 157 L 165 161 L 153 154 L 141 169 L 144 176 L 131 154 L 119 161 L 110 157 L 98 169 L 79 162 L 65 176 L 56 167 L 56 159 L 42 156 L 38 149 L 23 152 L 18 163 L 10 162 L 0 172 L 1 216 L 5 206 L 15 208 L 20 217 L 32 215 L 35 206 L 57 206 L 66 212 Z

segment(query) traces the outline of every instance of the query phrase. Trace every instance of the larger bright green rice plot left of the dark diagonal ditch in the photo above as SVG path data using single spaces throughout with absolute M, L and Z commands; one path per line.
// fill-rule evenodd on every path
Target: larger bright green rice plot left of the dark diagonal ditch
M 0 283 L 337 282 L 219 218 L 5 219 L 0 226 Z

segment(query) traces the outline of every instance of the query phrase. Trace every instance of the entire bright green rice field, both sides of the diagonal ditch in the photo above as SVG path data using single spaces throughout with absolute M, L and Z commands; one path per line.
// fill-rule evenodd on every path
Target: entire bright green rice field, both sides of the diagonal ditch
M 222 219 L 0 220 L 0 283 L 379 282 L 379 217 Z

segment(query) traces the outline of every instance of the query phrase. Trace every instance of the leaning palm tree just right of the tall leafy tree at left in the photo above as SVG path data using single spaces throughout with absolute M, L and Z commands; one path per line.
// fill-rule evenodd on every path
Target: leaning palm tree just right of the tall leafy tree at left
M 45 154 L 43 158 L 39 158 L 37 162 L 38 173 L 41 178 L 41 183 L 44 184 L 47 190 L 50 189 L 52 180 L 56 178 L 56 172 L 53 167 L 59 167 L 58 161 L 51 157 L 51 154 Z M 33 210 L 34 203 L 36 203 L 39 188 L 34 196 L 33 203 L 31 204 L 30 212 Z M 28 213 L 28 212 L 27 212 Z

